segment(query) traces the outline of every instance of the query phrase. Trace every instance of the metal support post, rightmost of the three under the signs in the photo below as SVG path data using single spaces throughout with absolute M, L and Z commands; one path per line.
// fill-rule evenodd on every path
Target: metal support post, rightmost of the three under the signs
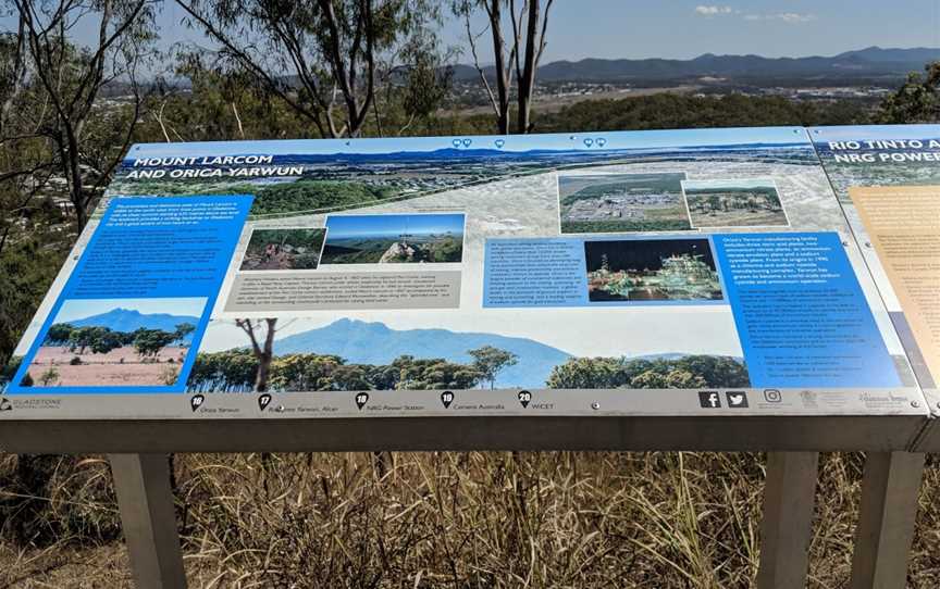
M 924 454 L 871 452 L 852 556 L 852 589 L 903 589 L 914 540 Z

